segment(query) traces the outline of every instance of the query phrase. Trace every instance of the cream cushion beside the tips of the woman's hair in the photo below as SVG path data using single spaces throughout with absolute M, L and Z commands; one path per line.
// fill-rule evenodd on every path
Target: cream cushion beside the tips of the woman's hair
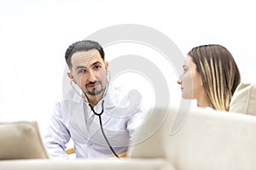
M 230 112 L 256 116 L 256 84 L 241 83 L 230 101 Z

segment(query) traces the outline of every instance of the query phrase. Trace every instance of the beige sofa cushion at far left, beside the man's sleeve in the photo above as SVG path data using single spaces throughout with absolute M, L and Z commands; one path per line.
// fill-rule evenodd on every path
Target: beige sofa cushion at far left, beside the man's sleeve
M 37 122 L 0 122 L 0 160 L 48 158 Z

